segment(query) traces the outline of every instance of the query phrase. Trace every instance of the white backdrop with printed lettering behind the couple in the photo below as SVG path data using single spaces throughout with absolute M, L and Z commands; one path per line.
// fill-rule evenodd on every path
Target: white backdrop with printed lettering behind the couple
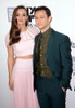
M 0 108 L 11 108 L 5 35 L 10 30 L 13 9 L 21 4 L 27 8 L 30 15 L 29 25 L 33 26 L 34 9 L 38 5 L 48 6 L 52 12 L 51 27 L 71 38 L 73 73 L 72 91 L 67 90 L 66 93 L 66 108 L 75 108 L 75 0 L 0 0 Z

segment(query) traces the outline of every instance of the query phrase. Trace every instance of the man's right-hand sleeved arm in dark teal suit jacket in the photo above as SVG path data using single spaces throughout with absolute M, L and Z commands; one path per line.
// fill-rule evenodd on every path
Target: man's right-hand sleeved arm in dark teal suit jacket
M 70 80 L 72 73 L 71 42 L 67 36 L 65 36 L 60 43 L 60 53 L 62 62 L 62 79 L 60 81 L 60 85 L 64 90 L 70 87 Z

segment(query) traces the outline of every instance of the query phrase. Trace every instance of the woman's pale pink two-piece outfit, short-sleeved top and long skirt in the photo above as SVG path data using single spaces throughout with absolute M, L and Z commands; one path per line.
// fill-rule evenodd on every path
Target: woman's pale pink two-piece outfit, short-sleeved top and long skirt
M 15 56 L 26 56 L 33 54 L 34 38 L 38 30 L 28 27 L 21 32 L 21 41 L 13 44 Z M 9 35 L 5 37 L 5 44 L 9 44 Z M 13 71 L 14 91 L 11 91 L 12 108 L 39 108 L 37 94 L 33 87 L 33 58 L 17 58 Z

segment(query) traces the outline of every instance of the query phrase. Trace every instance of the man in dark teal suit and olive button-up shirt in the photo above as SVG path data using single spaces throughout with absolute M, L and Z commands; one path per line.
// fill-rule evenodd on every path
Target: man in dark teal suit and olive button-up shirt
M 65 94 L 72 73 L 71 42 L 67 36 L 50 27 L 51 12 L 46 6 L 35 10 L 34 89 L 40 108 L 65 108 Z

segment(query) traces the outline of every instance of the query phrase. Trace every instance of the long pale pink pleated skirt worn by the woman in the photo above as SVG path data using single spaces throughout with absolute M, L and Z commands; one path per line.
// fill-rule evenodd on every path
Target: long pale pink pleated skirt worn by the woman
M 13 67 L 14 91 L 11 91 L 12 108 L 39 108 L 34 92 L 33 59 L 16 59 Z

